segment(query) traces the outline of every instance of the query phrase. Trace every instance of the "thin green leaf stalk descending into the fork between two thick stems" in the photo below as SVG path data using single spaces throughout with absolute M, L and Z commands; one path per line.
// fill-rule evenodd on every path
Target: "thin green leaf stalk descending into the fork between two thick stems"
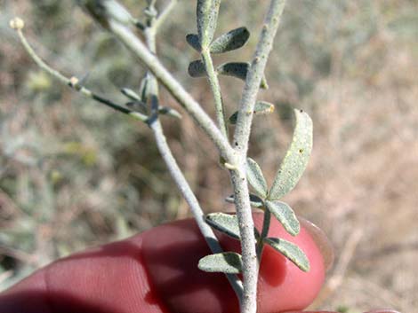
M 216 118 L 218 120 L 218 126 L 224 137 L 228 138 L 228 127 L 225 121 L 225 109 L 223 107 L 223 101 L 221 96 L 221 85 L 219 83 L 218 74 L 216 74 L 213 67 L 213 60 L 211 52 L 209 50 L 202 51 L 202 60 L 205 64 L 207 78 L 211 86 L 213 98 L 215 102 Z

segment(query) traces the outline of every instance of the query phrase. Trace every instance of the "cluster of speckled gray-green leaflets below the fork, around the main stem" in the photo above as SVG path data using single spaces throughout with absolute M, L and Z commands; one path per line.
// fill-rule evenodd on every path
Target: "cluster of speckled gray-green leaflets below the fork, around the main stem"
M 248 158 L 246 162 L 246 173 L 248 183 L 255 194 L 250 194 L 252 207 L 261 208 L 265 211 L 265 219 L 273 215 L 283 225 L 285 231 L 292 236 L 297 236 L 301 231 L 300 223 L 293 212 L 292 207 L 280 199 L 288 192 L 291 192 L 298 183 L 305 170 L 310 152 L 312 150 L 312 121 L 309 115 L 301 110 L 294 110 L 296 125 L 293 131 L 292 143 L 285 153 L 285 158 L 277 170 L 271 188 L 261 171 L 258 163 Z M 226 199 L 234 202 L 234 196 Z M 206 216 L 206 223 L 213 229 L 221 231 L 229 237 L 240 239 L 237 215 L 224 213 L 213 213 Z M 309 260 L 306 254 L 292 242 L 268 237 L 269 220 L 265 220 L 263 230 L 254 228 L 257 251 L 262 251 L 263 245 L 269 245 L 285 258 L 293 262 L 299 269 L 309 271 Z M 259 255 L 261 258 L 261 254 Z M 205 271 L 220 271 L 225 273 L 239 273 L 242 270 L 241 255 L 233 252 L 222 254 L 211 254 L 202 258 L 198 264 L 199 269 Z

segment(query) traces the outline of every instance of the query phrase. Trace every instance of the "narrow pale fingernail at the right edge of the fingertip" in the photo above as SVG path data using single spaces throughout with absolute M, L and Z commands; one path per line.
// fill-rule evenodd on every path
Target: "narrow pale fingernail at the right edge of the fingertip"
M 309 222 L 301 216 L 298 216 L 298 219 L 301 222 L 301 226 L 309 232 L 309 235 L 312 236 L 312 239 L 314 239 L 315 243 L 317 244 L 319 251 L 324 258 L 326 270 L 330 270 L 334 264 L 334 247 L 331 244 L 331 241 L 329 241 L 325 232 L 322 231 L 317 225 Z

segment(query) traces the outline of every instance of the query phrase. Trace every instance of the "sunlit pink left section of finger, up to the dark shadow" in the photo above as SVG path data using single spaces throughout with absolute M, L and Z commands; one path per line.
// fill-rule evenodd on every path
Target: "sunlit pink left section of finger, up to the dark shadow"
M 166 313 L 149 286 L 142 239 L 53 262 L 0 295 L 2 313 Z

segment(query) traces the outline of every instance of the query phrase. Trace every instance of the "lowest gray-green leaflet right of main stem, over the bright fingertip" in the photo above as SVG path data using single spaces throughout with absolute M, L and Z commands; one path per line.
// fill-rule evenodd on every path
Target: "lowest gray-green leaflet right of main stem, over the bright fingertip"
M 265 238 L 264 243 L 277 250 L 279 253 L 285 255 L 287 259 L 294 263 L 303 271 L 309 271 L 309 260 L 306 254 L 299 248 L 285 239 Z

